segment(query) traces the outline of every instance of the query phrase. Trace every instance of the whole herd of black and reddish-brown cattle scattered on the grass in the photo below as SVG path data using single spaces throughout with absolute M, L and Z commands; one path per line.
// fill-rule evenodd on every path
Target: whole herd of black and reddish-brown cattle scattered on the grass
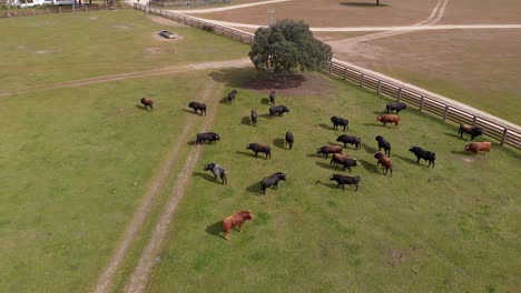
M 235 97 L 237 94 L 237 90 L 232 90 L 228 95 L 227 95 L 227 101 L 229 104 L 233 103 L 235 100 Z M 272 105 L 269 108 L 269 117 L 282 117 L 284 113 L 289 112 L 289 108 L 286 105 L 275 105 L 275 91 L 269 92 L 269 104 Z M 150 109 L 154 110 L 154 102 L 149 98 L 142 98 L 140 100 L 142 105 L 145 107 L 146 110 Z M 206 115 L 206 104 L 199 103 L 191 101 L 188 104 L 189 108 L 191 108 L 197 114 L 200 115 L 205 114 Z M 387 123 L 394 123 L 394 125 L 397 128 L 400 124 L 400 111 L 407 109 L 407 105 L 405 103 L 399 102 L 399 103 L 387 103 L 385 107 L 385 114 L 376 117 L 376 121 L 380 121 L 383 123 L 384 127 L 386 127 Z M 390 114 L 390 112 L 395 111 L 396 114 Z M 250 112 L 250 123 L 253 125 L 257 124 L 257 112 L 255 110 L 252 110 Z M 348 130 L 348 120 L 345 118 L 341 117 L 332 117 L 331 122 L 333 123 L 333 129 L 338 129 L 338 127 L 342 127 L 342 130 L 345 132 L 345 130 Z M 463 134 L 468 133 L 471 135 L 471 140 L 474 140 L 474 138 L 482 135 L 483 130 L 473 127 L 473 125 L 466 125 L 466 124 L 461 124 L 458 131 L 458 135 L 463 138 Z M 217 142 L 220 140 L 219 134 L 215 132 L 205 132 L 205 133 L 198 133 L 196 135 L 195 144 L 204 144 L 205 142 L 208 142 L 212 144 L 212 142 Z M 293 132 L 288 131 L 286 132 L 285 135 L 285 141 L 286 144 L 288 145 L 288 149 L 293 149 L 293 144 L 295 142 Z M 351 168 L 354 168 L 357 165 L 357 161 L 354 158 L 351 158 L 350 155 L 344 155 L 342 154 L 344 148 L 347 148 L 347 144 L 351 144 L 354 146 L 354 150 L 360 150 L 362 145 L 362 139 L 354 135 L 348 135 L 348 134 L 342 134 L 336 139 L 337 142 L 342 142 L 344 145 L 324 145 L 322 148 L 318 148 L 316 153 L 317 154 L 324 154 L 325 158 L 327 159 L 330 154 L 333 155 L 333 158 L 330 161 L 330 164 L 333 164 L 334 166 L 341 166 L 342 171 L 345 171 L 347 169 L 350 172 L 352 172 Z M 381 165 L 382 168 L 382 173 L 386 175 L 390 173 L 390 176 L 393 175 L 393 163 L 391 160 L 391 143 L 386 141 L 382 135 L 376 135 L 375 141 L 377 143 L 377 149 L 379 151 L 374 153 L 374 159 L 376 159 L 376 168 Z M 489 153 L 491 150 L 492 143 L 491 142 L 471 142 L 465 145 L 464 150 L 470 151 L 473 153 L 474 156 L 476 156 L 478 152 L 482 151 L 484 153 Z M 265 154 L 266 160 L 272 159 L 272 150 L 269 145 L 265 144 L 259 144 L 259 143 L 249 143 L 246 145 L 247 150 L 252 150 L 255 153 L 255 156 L 258 155 L 258 153 Z M 384 152 L 382 152 L 382 149 Z M 422 149 L 421 146 L 417 145 L 412 145 L 409 149 L 410 152 L 412 152 L 416 156 L 416 163 L 420 163 L 420 160 L 425 160 L 429 162 L 427 166 L 434 168 L 435 160 L 436 160 L 436 154 L 432 151 L 427 151 Z M 227 172 L 226 170 L 216 164 L 216 163 L 208 163 L 204 166 L 205 171 L 210 171 L 214 174 L 215 180 L 220 179 L 223 184 L 227 184 Z M 263 178 L 260 181 L 260 193 L 266 194 L 267 188 L 272 188 L 274 190 L 277 189 L 278 182 L 283 180 L 286 180 L 286 173 L 285 172 L 276 172 L 269 176 Z M 355 176 L 348 176 L 344 174 L 337 174 L 334 173 L 330 176 L 331 181 L 336 181 L 337 186 L 342 186 L 342 189 L 345 189 L 345 184 L 347 185 L 354 185 L 355 191 L 358 190 L 358 183 L 361 181 L 361 178 L 358 175 Z M 227 240 L 228 239 L 228 233 L 229 230 L 238 226 L 239 231 L 242 229 L 242 225 L 245 221 L 247 220 L 253 220 L 254 215 L 250 211 L 240 211 L 236 214 L 233 214 L 225 220 L 223 220 L 223 230 L 224 230 L 224 236 Z

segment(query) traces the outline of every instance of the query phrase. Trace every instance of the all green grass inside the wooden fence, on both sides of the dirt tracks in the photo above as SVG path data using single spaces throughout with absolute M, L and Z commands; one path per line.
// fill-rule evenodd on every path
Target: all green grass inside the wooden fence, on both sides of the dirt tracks
M 10 36 L 0 42 L 0 91 L 247 52 L 244 44 L 189 28 L 174 28 L 185 37 L 180 41 L 159 41 L 153 34 L 165 26 L 131 10 L 8 19 L 0 26 Z M 70 42 L 81 28 L 87 37 Z M 45 40 L 49 36 L 53 41 Z M 146 58 L 153 47 L 160 47 L 158 55 Z M 210 131 L 223 140 L 197 146 L 203 156 L 148 292 L 515 291 L 519 151 L 494 144 L 489 155 L 473 160 L 462 152 L 468 141 L 455 137 L 455 127 L 413 109 L 402 112 L 400 129 L 385 129 L 374 118 L 386 100 L 320 74 L 307 75 L 311 84 L 294 89 L 295 95 L 281 91 L 278 102 L 291 113 L 271 120 L 262 102 L 268 91 L 245 85 L 254 77 L 252 69 L 209 70 L 0 98 L 0 292 L 91 292 L 166 156 L 181 142 L 181 159 L 116 273 L 112 289 L 122 291 L 194 150 L 180 130 L 188 124 L 196 133 L 205 119 L 184 110 L 209 84 L 237 88 L 239 94 L 235 104 L 216 109 Z M 314 93 L 315 82 L 322 94 Z M 144 95 L 156 101 L 157 111 L 137 105 Z M 258 127 L 245 119 L 252 109 L 260 114 Z M 353 170 L 362 176 L 358 192 L 334 189 L 328 178 L 341 171 L 315 155 L 342 133 L 330 127 L 333 114 L 350 118 L 350 133 L 364 142 L 362 150 L 346 150 L 361 163 Z M 292 151 L 281 141 L 287 130 L 296 138 Z M 393 144 L 393 178 L 375 168 L 376 134 Z M 271 144 L 273 160 L 253 158 L 245 150 L 250 142 Z M 436 168 L 416 165 L 411 144 L 435 151 Z M 203 171 L 210 161 L 227 168 L 228 185 Z M 258 182 L 276 171 L 286 171 L 287 181 L 260 196 Z M 218 222 L 244 209 L 254 210 L 256 220 L 226 242 Z

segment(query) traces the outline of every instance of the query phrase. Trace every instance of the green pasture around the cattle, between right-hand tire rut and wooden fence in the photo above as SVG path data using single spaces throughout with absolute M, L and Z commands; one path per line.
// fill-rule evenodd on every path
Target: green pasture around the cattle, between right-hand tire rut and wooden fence
M 260 90 L 259 74 L 210 75 L 242 93 L 233 105 L 219 104 L 213 129 L 223 139 L 203 151 L 198 166 L 226 165 L 228 184 L 196 171 L 147 292 L 515 291 L 519 151 L 494 145 L 474 160 L 455 125 L 415 110 L 401 113 L 400 129 L 384 128 L 374 115 L 389 100 L 320 74 L 277 89 L 292 112 L 269 119 L 269 87 Z M 323 94 L 307 94 L 313 84 Z M 256 127 L 242 123 L 250 109 L 259 113 Z M 362 138 L 361 150 L 344 150 L 358 160 L 352 173 L 315 153 L 344 133 L 333 130 L 332 113 L 350 117 L 350 134 Z M 298 138 L 293 150 L 284 145 L 286 129 Z M 393 143 L 392 178 L 376 168 L 377 134 Z M 243 150 L 249 141 L 273 141 L 273 159 Z M 413 144 L 436 152 L 435 169 L 416 164 Z M 277 171 L 286 180 L 262 195 L 260 179 Z M 336 189 L 333 173 L 360 175 L 358 191 Z M 225 241 L 220 221 L 242 210 L 255 219 Z

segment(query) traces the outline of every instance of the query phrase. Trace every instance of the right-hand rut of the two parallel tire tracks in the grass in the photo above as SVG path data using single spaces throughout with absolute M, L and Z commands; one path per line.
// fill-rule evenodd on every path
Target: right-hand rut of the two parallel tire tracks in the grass
M 209 84 L 210 87 L 207 87 L 204 91 L 204 100 L 208 100 L 210 95 L 215 94 L 215 92 L 220 92 L 216 91 L 216 83 L 209 82 Z M 216 109 L 218 107 L 218 100 L 212 101 L 209 102 L 209 104 L 210 107 L 208 109 L 210 111 L 208 111 L 200 131 L 206 131 L 208 129 L 217 113 Z M 186 163 L 181 169 L 183 171 L 178 174 L 177 180 L 174 183 L 174 189 L 171 191 L 170 199 L 168 200 L 168 203 L 166 204 L 157 224 L 154 228 L 150 240 L 147 243 L 139 259 L 136 270 L 131 274 L 127 285 L 125 286 L 125 292 L 136 293 L 142 292 L 145 290 L 150 275 L 150 270 L 156 263 L 157 255 L 160 253 L 168 228 L 170 226 L 170 223 L 173 221 L 174 213 L 179 201 L 183 199 L 183 194 L 185 192 L 186 186 L 190 181 L 191 173 L 195 170 L 200 152 L 201 146 L 195 146 L 195 149 L 191 150 L 188 154 L 188 159 L 186 160 Z

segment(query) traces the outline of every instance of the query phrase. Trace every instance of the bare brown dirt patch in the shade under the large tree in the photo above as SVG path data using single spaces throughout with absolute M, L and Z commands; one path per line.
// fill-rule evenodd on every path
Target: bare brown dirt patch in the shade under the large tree
M 314 73 L 259 74 L 243 87 L 263 93 L 277 90 L 284 95 L 321 95 L 333 90 L 325 77 Z

